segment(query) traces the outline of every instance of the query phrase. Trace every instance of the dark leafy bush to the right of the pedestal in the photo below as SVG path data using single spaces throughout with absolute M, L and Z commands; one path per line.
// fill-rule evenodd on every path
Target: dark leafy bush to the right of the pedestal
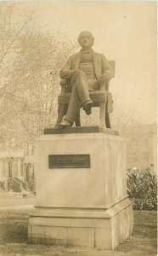
M 144 172 L 127 171 L 127 195 L 133 201 L 134 210 L 157 209 L 157 180 L 152 165 Z

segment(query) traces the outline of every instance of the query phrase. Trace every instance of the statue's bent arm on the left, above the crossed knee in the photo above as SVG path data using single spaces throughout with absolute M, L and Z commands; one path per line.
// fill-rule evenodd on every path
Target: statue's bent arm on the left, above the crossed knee
M 71 79 L 71 77 L 76 73 L 75 69 L 72 69 L 72 56 L 66 61 L 65 66 L 61 69 L 59 73 L 60 79 Z

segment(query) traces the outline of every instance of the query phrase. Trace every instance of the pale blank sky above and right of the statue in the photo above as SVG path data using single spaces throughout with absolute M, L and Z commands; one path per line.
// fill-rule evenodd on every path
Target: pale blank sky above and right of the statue
M 148 124 L 156 120 L 156 2 L 28 1 L 35 6 L 35 26 L 42 32 L 67 33 L 76 40 L 88 30 L 93 49 L 116 61 L 110 81 L 112 119 L 134 119 Z M 78 46 L 78 50 L 79 50 Z M 65 60 L 66 61 L 66 60 Z

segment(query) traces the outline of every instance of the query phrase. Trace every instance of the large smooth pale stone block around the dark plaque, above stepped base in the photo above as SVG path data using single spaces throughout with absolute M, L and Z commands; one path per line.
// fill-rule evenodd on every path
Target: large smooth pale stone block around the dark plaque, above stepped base
M 37 206 L 110 207 L 127 196 L 121 137 L 103 132 L 48 134 L 39 137 L 36 148 Z M 50 169 L 52 154 L 89 154 L 90 168 Z

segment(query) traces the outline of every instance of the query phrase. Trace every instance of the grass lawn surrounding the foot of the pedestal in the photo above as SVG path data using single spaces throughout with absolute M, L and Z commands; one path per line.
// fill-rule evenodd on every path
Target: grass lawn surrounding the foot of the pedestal
M 156 255 L 156 212 L 134 212 L 133 236 L 114 252 L 86 247 L 58 247 L 27 243 L 27 225 L 32 209 L 0 210 L 0 256 L 149 256 Z

